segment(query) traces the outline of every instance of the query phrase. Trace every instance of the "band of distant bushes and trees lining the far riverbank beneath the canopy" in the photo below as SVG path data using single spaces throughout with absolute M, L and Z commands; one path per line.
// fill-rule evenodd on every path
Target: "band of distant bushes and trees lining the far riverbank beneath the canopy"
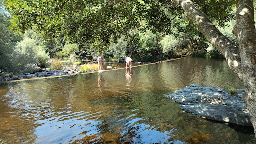
M 50 58 L 58 57 L 63 60 L 96 59 L 104 54 L 106 62 L 124 62 L 130 56 L 138 62 L 154 62 L 166 58 L 176 58 L 181 55 L 193 55 L 208 58 L 223 58 L 203 36 L 186 22 L 180 24 L 182 28 L 172 29 L 172 34 L 164 34 L 153 30 L 131 30 L 113 38 L 110 43 L 102 45 L 100 39 L 88 44 L 76 44 L 64 35 L 53 39 L 44 39 L 36 27 L 25 31 L 24 34 L 15 34 L 9 29 L 12 15 L 4 8 L 1 2 L 0 11 L 0 74 L 14 75 L 31 64 L 41 68 L 46 67 Z M 230 40 L 237 44 L 232 34 L 235 21 L 227 23 L 226 28 L 220 28 Z M 79 35 L 78 35 L 79 37 Z M 82 46 L 81 46 L 82 45 Z

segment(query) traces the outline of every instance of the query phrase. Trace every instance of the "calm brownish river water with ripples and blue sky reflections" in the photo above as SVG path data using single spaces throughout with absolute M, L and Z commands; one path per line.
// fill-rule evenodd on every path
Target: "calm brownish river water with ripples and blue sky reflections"
M 164 95 L 190 84 L 243 84 L 224 60 L 182 58 L 102 73 L 0 83 L 8 144 L 255 144 L 235 128 L 183 112 Z

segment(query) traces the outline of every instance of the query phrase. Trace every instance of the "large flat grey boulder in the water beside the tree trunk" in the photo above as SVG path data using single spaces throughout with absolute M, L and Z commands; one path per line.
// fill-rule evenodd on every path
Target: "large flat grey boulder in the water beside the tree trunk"
M 216 86 L 191 84 L 175 90 L 167 98 L 180 103 L 180 108 L 202 118 L 252 126 L 250 114 L 242 99 L 243 89 L 236 89 L 237 94 Z

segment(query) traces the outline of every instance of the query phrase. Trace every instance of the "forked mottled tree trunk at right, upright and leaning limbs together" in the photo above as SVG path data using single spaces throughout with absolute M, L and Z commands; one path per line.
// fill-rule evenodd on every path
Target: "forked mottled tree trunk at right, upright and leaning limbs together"
M 236 5 L 237 24 L 233 32 L 238 38 L 239 49 L 190 0 L 174 1 L 184 9 L 188 19 L 196 22 L 204 38 L 224 55 L 231 70 L 244 82 L 243 98 L 256 134 L 256 31 L 253 0 L 239 0 Z

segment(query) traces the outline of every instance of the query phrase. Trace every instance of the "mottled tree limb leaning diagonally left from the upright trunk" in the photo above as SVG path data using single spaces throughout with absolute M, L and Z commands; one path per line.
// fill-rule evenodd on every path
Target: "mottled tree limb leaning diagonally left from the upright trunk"
M 241 58 L 238 47 L 226 38 L 210 22 L 205 14 L 196 8 L 191 0 L 174 0 L 174 2 L 183 8 L 189 20 L 196 22 L 197 28 L 203 34 L 204 38 L 224 55 L 231 70 L 242 80 Z

